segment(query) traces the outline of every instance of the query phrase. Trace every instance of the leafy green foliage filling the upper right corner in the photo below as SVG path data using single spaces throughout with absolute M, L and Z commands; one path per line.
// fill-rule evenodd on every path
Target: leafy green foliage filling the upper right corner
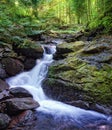
M 94 12 L 94 17 L 89 23 L 90 28 L 97 28 L 102 26 L 105 28 L 104 32 L 112 32 L 112 4 L 111 0 L 99 0 L 98 3 L 95 3 L 97 7 Z

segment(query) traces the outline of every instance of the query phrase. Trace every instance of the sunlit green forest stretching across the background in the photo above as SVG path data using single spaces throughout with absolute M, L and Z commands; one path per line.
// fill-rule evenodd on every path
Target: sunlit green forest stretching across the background
M 39 30 L 102 26 L 112 32 L 111 0 L 1 0 L 1 26 L 35 26 Z

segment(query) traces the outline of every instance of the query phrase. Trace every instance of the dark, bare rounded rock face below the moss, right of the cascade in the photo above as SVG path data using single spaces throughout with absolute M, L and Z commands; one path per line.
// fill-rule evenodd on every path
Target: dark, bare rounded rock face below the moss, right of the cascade
M 69 87 L 68 87 L 69 86 Z M 75 85 L 67 81 L 55 78 L 47 78 L 44 81 L 43 89 L 48 97 L 63 102 L 70 102 L 80 99 L 82 92 L 75 89 Z

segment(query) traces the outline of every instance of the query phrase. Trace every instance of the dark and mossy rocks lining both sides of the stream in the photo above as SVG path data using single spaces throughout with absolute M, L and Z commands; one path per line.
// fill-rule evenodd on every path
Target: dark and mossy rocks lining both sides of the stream
M 35 114 L 38 102 L 19 86 L 9 89 L 5 80 L 33 68 L 36 59 L 42 58 L 43 43 L 63 42 L 57 45 L 54 62 L 43 81 L 45 94 L 73 106 L 112 114 L 112 36 L 102 35 L 92 41 L 86 40 L 82 33 L 42 35 L 41 39 L 39 35 L 29 37 L 37 40 L 37 47 L 18 48 L 0 43 L 1 130 L 34 130 L 31 126 L 38 125 L 35 123 L 38 122 Z

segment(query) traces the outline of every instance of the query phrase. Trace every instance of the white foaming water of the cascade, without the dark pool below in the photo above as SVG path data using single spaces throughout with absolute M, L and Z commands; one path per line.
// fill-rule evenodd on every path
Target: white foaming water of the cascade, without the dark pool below
M 73 122 L 78 127 L 92 123 L 108 122 L 106 115 L 54 101 L 45 95 L 41 84 L 48 72 L 48 66 L 53 62 L 53 54 L 56 52 L 56 46 L 49 45 L 48 49 L 50 49 L 51 54 L 46 54 L 44 50 L 43 58 L 37 60 L 36 66 L 32 70 L 6 80 L 10 88 L 22 87 L 28 90 L 40 104 L 37 111 L 51 114 L 56 120 L 63 118 L 64 121 Z

